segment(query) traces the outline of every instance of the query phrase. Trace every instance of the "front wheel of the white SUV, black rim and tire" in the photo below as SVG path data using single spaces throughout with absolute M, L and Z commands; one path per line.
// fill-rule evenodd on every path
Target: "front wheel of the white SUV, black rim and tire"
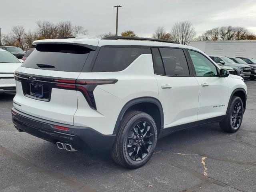
M 220 122 L 220 128 L 224 132 L 234 133 L 238 131 L 242 124 L 244 106 L 240 97 L 233 96 L 228 105 L 225 119 Z

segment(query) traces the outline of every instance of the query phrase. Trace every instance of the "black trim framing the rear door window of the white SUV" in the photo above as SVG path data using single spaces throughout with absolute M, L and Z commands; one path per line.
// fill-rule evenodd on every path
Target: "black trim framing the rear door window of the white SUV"
M 152 54 L 152 62 L 153 62 L 153 68 L 154 68 L 154 74 L 155 75 L 160 75 L 160 76 L 166 76 L 166 77 L 194 77 L 194 72 L 193 72 L 193 69 L 191 67 L 191 63 L 190 63 L 190 60 L 188 58 L 188 55 L 186 53 L 186 49 L 185 48 L 181 48 L 181 47 L 167 47 L 167 46 L 150 46 L 151 48 L 158 48 L 158 52 L 160 54 L 160 57 L 161 57 L 161 60 L 162 60 L 162 65 L 163 65 L 163 68 L 164 68 L 164 61 L 163 61 L 163 58 L 162 58 L 162 54 L 159 50 L 159 48 L 172 48 L 172 49 L 181 49 L 183 50 L 183 53 L 184 53 L 184 56 L 186 58 L 186 62 L 187 62 L 187 65 L 188 65 L 188 72 L 189 72 L 189 76 L 174 76 L 174 75 L 166 75 L 166 72 L 165 72 L 165 68 L 164 68 L 164 74 L 157 74 L 155 73 L 155 68 L 154 68 L 154 58 L 153 58 L 153 53 L 152 53 L 152 49 L 151 49 L 151 54 Z

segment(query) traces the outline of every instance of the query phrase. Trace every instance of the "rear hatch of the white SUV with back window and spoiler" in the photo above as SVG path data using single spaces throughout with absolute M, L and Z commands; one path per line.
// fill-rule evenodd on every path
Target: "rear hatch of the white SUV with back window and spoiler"
M 73 124 L 77 91 L 72 84 L 90 53 L 96 49 L 98 40 L 90 45 L 71 40 L 48 41 L 38 42 L 36 49 L 16 71 L 14 107 L 38 118 Z

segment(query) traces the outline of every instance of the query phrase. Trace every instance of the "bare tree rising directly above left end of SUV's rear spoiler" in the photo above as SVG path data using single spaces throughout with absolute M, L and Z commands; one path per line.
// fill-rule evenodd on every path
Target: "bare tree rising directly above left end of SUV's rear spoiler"
M 38 21 L 36 24 L 36 32 L 39 37 L 43 37 L 45 39 L 54 39 L 57 37 L 58 28 L 55 24 L 50 21 Z

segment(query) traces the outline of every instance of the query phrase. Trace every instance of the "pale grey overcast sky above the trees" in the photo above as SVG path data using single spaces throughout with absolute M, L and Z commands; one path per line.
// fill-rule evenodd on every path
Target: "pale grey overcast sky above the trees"
M 158 26 L 166 31 L 175 22 L 192 22 L 197 34 L 217 26 L 244 26 L 256 34 L 256 0 L 1 0 L 0 27 L 6 34 L 12 26 L 34 30 L 36 21 L 57 23 L 70 20 L 84 26 L 88 37 L 133 30 L 150 37 Z

